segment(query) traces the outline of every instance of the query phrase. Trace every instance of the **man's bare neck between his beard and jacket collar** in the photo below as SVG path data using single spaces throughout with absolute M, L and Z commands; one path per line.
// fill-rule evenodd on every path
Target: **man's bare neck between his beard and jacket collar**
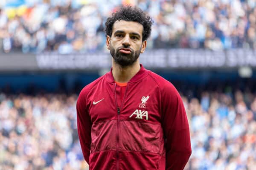
M 112 74 L 116 82 L 128 82 L 140 71 L 140 61 L 137 59 L 133 65 L 122 67 L 112 59 Z

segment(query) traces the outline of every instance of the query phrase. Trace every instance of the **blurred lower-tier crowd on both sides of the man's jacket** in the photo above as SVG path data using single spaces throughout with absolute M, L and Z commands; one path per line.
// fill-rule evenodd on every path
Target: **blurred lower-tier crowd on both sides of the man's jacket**
M 255 170 L 256 94 L 182 95 L 192 155 L 185 170 Z M 0 170 L 88 170 L 76 127 L 76 94 L 0 94 Z

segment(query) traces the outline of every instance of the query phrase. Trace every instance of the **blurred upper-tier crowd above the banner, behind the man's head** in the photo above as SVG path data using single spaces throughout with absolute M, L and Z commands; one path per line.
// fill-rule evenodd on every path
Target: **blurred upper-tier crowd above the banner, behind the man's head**
M 104 51 L 105 21 L 125 4 L 154 19 L 147 48 L 256 49 L 255 0 L 16 1 L 0 3 L 0 51 L 6 53 Z

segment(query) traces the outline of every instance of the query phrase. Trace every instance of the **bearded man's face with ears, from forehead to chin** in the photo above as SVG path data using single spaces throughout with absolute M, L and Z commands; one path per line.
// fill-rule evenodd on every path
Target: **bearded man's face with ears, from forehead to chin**
M 133 21 L 116 21 L 111 37 L 107 36 L 107 48 L 114 61 L 125 67 L 134 64 L 145 51 L 147 42 L 142 41 L 143 26 Z

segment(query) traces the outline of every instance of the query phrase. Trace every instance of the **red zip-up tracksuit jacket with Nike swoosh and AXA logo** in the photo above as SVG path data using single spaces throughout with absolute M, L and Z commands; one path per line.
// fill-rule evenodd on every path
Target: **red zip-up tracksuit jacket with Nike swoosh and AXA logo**
M 191 144 L 175 87 L 141 65 L 117 101 L 120 89 L 110 71 L 79 94 L 78 134 L 90 170 L 182 170 Z

